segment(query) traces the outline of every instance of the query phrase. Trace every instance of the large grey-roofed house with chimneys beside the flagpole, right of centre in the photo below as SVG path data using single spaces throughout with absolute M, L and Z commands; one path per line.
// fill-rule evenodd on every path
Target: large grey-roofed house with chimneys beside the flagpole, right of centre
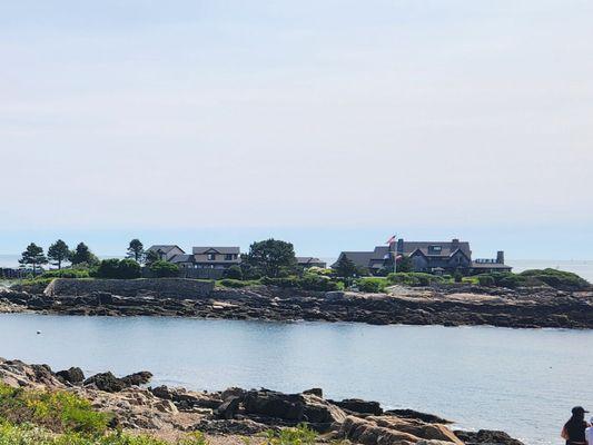
M 380 269 L 393 268 L 394 256 L 409 257 L 414 271 L 482 274 L 490 271 L 511 271 L 504 264 L 504 253 L 498 251 L 495 259 L 472 260 L 470 243 L 451 241 L 405 241 L 399 238 L 389 246 L 377 246 L 373 251 L 343 251 L 338 261 L 347 257 L 355 265 L 377 274 Z M 337 261 L 336 261 L 337 264 Z M 332 267 L 335 267 L 334 264 Z

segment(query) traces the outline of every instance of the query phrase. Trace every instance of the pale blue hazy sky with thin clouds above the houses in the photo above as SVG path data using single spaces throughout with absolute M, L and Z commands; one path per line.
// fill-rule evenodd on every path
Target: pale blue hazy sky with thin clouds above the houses
M 0 2 L 0 254 L 593 259 L 593 3 Z

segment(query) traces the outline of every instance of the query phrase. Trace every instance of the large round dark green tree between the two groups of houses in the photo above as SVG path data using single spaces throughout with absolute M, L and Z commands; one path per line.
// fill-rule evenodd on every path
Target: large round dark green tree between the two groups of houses
M 295 248 L 290 243 L 277 239 L 256 241 L 249 246 L 247 261 L 265 276 L 276 278 L 280 270 L 296 267 Z

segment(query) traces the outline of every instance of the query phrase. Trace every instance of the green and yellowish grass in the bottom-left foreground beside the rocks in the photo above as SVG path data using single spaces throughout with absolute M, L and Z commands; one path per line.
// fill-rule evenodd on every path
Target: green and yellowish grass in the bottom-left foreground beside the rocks
M 0 383 L 0 445 L 171 445 L 110 431 L 112 415 L 75 394 L 12 388 Z M 176 445 L 207 445 L 200 432 Z

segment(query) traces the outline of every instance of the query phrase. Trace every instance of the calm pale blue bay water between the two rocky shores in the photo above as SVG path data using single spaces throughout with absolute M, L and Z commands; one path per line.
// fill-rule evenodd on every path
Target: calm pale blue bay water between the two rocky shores
M 319 386 L 528 444 L 562 443 L 570 408 L 593 407 L 592 344 L 591 330 L 0 315 L 3 357 L 148 369 L 155 385 L 192 389 Z

